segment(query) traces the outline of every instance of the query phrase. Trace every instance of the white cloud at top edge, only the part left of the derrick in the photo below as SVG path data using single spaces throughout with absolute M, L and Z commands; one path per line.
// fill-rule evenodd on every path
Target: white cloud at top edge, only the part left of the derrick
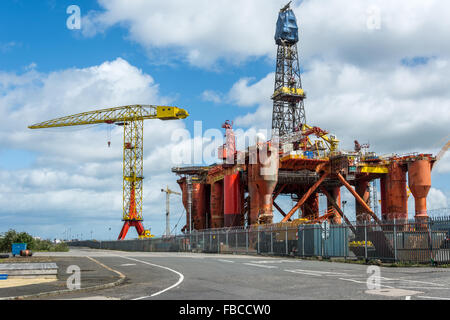
M 150 54 L 176 49 L 179 58 L 196 66 L 209 67 L 219 59 L 239 63 L 268 53 L 283 2 L 100 0 L 104 11 L 85 16 L 83 32 L 92 36 L 119 24 Z

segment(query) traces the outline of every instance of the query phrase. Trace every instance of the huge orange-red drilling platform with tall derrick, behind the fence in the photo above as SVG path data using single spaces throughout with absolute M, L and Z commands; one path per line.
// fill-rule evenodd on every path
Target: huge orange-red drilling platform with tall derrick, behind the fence
M 279 12 L 275 42 L 272 139 L 259 141 L 245 151 L 236 150 L 232 124 L 227 121 L 223 125 L 226 143 L 219 148 L 223 164 L 172 169 L 180 176 L 178 184 L 186 209 L 182 231 L 273 224 L 274 208 L 283 216 L 282 223 L 327 220 L 341 224 L 344 220 L 350 224 L 341 209 L 341 187 L 355 198 L 358 224 L 406 221 L 409 190 L 415 199 L 416 222 L 425 222 L 436 158 L 430 154 L 382 157 L 368 152 L 368 146 L 357 141 L 354 150 L 340 150 L 335 136 L 306 124 L 298 27 L 289 5 Z M 378 180 L 380 217 L 370 205 L 371 182 Z M 327 198 L 327 210 L 322 215 L 319 194 Z M 277 204 L 280 195 L 294 200 L 289 212 Z

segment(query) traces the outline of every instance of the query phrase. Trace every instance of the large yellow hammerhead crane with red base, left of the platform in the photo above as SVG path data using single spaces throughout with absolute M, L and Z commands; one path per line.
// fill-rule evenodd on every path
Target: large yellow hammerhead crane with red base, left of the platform
M 144 120 L 185 119 L 189 113 L 169 106 L 130 105 L 90 112 L 41 122 L 30 129 L 69 127 L 91 124 L 123 126 L 123 227 L 118 240 L 125 239 L 130 227 L 135 227 L 140 238 L 152 237 L 142 224 L 143 138 Z

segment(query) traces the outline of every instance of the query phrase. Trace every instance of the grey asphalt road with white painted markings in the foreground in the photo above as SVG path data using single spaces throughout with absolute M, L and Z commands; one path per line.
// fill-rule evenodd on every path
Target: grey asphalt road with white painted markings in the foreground
M 52 299 L 450 300 L 450 270 L 444 268 L 372 270 L 295 258 L 94 249 L 53 255 L 89 256 L 127 279 L 118 287 Z

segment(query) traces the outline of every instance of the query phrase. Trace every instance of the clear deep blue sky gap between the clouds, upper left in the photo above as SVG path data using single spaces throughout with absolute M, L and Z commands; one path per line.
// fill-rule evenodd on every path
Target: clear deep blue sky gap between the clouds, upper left
M 127 40 L 128 32 L 124 28 L 113 27 L 90 38 L 83 37 L 81 30 L 66 28 L 70 16 L 66 9 L 74 3 L 80 7 L 82 15 L 101 9 L 95 1 L 3 1 L 0 4 L 3 25 L 0 39 L 5 48 L 0 69 L 21 73 L 36 64 L 39 72 L 52 72 L 99 65 L 122 57 L 151 74 L 160 85 L 161 95 L 176 96 L 174 104 L 186 106 L 193 117 L 204 121 L 204 126 L 214 127 L 219 126 L 222 119 L 235 117 L 240 110 L 232 105 L 213 108 L 211 103 L 201 99 L 205 88 L 229 88 L 243 76 L 260 78 L 273 69 L 272 61 L 264 58 L 251 59 L 239 66 L 219 62 L 216 67 L 220 71 L 201 69 L 183 61 L 159 65 L 139 44 Z M 209 117 L 210 111 L 217 117 Z

